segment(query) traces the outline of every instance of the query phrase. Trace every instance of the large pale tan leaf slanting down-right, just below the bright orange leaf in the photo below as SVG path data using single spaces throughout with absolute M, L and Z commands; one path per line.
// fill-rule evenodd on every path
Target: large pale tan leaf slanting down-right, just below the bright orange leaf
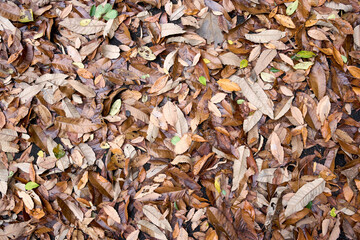
M 257 82 L 248 82 L 238 76 L 231 76 L 230 80 L 241 86 L 242 94 L 244 94 L 251 104 L 271 119 L 274 118 L 273 103 Z

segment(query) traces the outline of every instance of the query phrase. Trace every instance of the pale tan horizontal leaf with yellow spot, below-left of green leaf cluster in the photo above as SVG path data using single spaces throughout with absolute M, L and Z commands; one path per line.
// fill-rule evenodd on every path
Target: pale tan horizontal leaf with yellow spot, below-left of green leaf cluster
M 101 32 L 104 30 L 106 23 L 98 20 L 90 20 L 89 24 L 82 26 L 80 24 L 84 18 L 67 18 L 59 23 L 59 25 L 66 27 L 70 31 L 78 34 L 89 35 Z

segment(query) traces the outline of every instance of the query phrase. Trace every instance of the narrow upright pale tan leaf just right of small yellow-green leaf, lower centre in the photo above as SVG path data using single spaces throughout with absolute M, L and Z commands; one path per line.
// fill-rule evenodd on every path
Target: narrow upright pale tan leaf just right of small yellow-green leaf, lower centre
M 247 158 L 250 157 L 250 149 L 245 146 L 238 147 L 239 158 L 234 161 L 233 166 L 233 185 L 231 191 L 236 191 L 239 188 L 240 181 L 245 176 L 247 170 Z

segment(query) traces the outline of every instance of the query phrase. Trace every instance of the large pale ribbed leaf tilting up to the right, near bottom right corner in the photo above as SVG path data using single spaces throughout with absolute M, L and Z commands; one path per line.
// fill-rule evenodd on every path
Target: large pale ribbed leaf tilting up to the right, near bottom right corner
M 285 217 L 302 210 L 310 201 L 314 200 L 325 190 L 325 180 L 318 178 L 302 186 L 289 200 Z

